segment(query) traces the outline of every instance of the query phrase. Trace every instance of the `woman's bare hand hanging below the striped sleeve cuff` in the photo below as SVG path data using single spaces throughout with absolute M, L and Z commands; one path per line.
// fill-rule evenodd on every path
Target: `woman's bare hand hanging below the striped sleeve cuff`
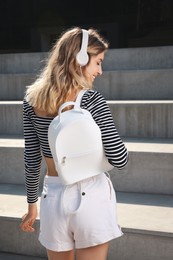
M 25 232 L 34 232 L 33 224 L 37 218 L 37 204 L 28 204 L 28 213 L 22 217 L 20 228 Z

